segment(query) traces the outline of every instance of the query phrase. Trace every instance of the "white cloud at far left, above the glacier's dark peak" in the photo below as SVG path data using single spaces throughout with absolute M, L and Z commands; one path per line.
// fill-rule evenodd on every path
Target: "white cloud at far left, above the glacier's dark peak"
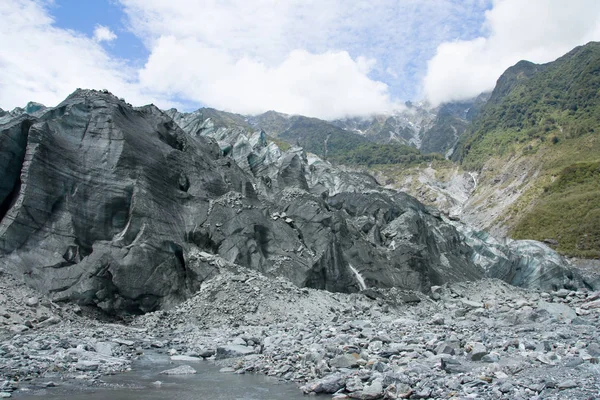
M 173 103 L 137 84 L 136 71 L 94 40 L 58 29 L 41 2 L 0 1 L 0 106 L 54 106 L 76 88 L 109 89 L 134 104 Z

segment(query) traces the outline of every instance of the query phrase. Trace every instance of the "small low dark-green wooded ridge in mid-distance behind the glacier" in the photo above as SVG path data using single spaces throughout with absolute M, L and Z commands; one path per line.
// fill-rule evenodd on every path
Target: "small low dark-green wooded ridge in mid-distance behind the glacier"
M 364 143 L 346 152 L 338 152 L 331 160 L 340 164 L 375 165 L 397 164 L 416 166 L 433 160 L 443 160 L 440 154 L 422 154 L 414 147 L 402 144 Z

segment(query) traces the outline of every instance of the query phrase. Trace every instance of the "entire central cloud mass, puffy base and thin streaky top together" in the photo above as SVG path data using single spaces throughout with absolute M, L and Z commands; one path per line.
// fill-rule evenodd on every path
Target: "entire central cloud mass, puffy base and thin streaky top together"
M 472 37 L 464 20 L 488 0 L 120 1 L 151 52 L 146 87 L 237 112 L 333 118 L 412 95 L 427 52 Z

